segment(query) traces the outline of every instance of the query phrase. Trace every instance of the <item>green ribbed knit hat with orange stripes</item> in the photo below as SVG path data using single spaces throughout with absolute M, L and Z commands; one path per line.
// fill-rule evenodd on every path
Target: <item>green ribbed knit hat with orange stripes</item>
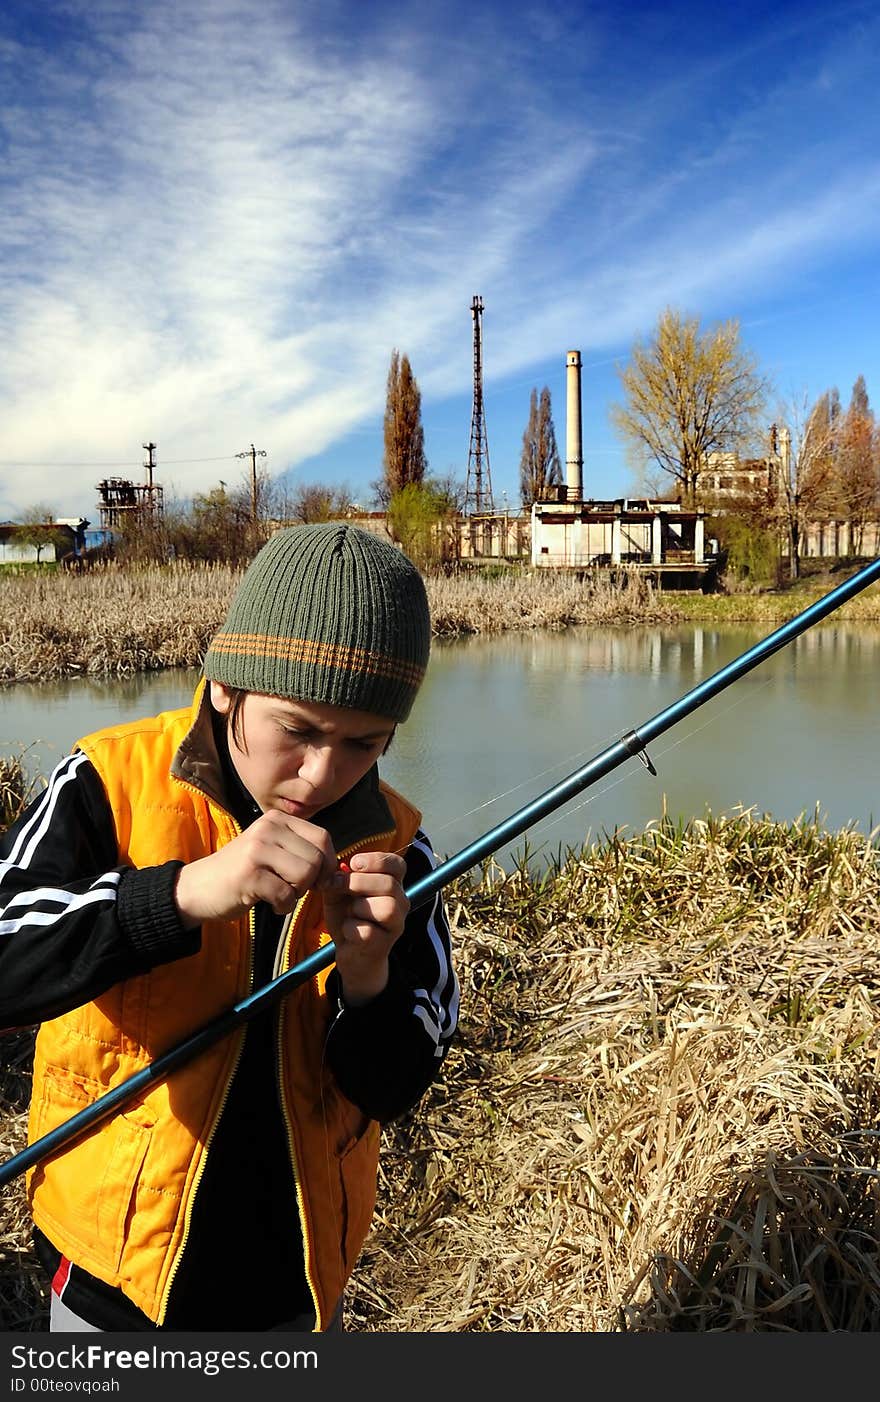
M 430 614 L 416 566 L 343 522 L 276 531 L 251 562 L 203 672 L 244 691 L 405 721 Z

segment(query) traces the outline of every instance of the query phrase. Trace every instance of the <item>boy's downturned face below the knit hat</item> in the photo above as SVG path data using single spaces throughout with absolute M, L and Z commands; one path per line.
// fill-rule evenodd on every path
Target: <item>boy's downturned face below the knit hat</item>
M 212 681 L 210 698 L 228 715 L 227 687 Z M 369 711 L 249 691 L 227 739 L 235 771 L 263 813 L 311 819 L 364 777 L 394 729 L 394 721 Z

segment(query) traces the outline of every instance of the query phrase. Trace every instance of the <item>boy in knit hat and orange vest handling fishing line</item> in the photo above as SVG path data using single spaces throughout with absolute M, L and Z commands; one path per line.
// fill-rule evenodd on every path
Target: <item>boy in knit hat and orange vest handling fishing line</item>
M 457 1021 L 441 901 L 404 894 L 434 865 L 420 815 L 377 773 L 429 649 L 394 545 L 277 531 L 192 707 L 81 740 L 0 843 L 0 1014 L 42 1023 L 31 1141 L 335 944 L 329 972 L 31 1169 L 52 1329 L 341 1326 L 380 1124 Z

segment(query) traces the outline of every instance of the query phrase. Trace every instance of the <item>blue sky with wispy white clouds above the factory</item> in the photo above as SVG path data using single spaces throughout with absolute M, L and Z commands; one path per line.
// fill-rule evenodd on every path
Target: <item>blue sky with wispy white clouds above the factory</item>
M 475 293 L 497 505 L 569 349 L 584 492 L 635 489 L 608 407 L 666 306 L 880 405 L 879 73 L 876 0 L 7 0 L 0 519 L 97 523 L 147 440 L 179 499 L 255 443 L 366 503 L 394 348 L 464 479 Z

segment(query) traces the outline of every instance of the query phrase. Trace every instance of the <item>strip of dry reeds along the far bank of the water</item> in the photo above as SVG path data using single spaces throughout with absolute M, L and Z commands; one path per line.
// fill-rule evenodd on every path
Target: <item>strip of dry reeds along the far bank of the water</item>
M 0 684 L 70 676 L 115 677 L 196 667 L 223 621 L 241 572 L 175 564 L 84 575 L 0 575 Z M 615 580 L 502 573 L 426 580 L 437 638 L 507 629 L 706 622 L 786 622 L 842 582 L 806 580 L 765 594 L 674 594 L 643 578 Z M 880 587 L 845 604 L 839 618 L 880 621 Z

